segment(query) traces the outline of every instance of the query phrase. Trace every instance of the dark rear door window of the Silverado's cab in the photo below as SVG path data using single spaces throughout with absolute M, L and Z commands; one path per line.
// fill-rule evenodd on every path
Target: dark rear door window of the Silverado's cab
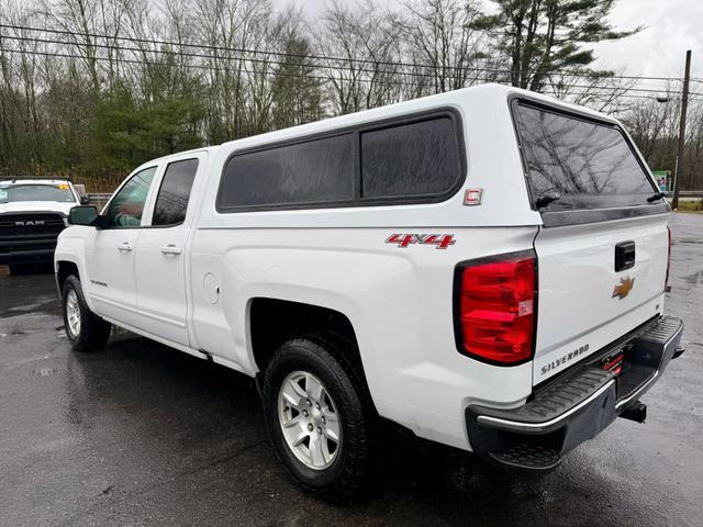
M 170 162 L 156 197 L 152 225 L 179 225 L 186 220 L 188 199 L 198 171 L 198 159 Z

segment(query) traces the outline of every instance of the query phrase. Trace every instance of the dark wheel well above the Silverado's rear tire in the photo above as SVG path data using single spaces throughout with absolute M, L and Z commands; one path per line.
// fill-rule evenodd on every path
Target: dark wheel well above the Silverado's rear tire
M 266 371 L 274 354 L 284 341 L 319 336 L 328 344 L 334 340 L 339 344 L 330 346 L 334 348 L 330 351 L 341 355 L 336 358 L 350 367 L 354 370 L 350 373 L 357 374 L 368 390 L 354 327 L 349 318 L 338 311 L 287 300 L 257 298 L 252 300 L 249 328 L 259 374 Z M 332 341 L 330 336 L 333 337 Z

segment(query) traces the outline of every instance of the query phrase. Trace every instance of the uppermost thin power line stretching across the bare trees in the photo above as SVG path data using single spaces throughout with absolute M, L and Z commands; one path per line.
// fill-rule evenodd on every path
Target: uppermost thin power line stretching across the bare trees
M 147 44 L 158 44 L 158 45 L 167 45 L 167 46 L 179 46 L 179 47 L 190 47 L 190 48 L 200 48 L 200 49 L 211 49 L 211 51 L 220 51 L 220 52 L 231 52 L 231 53 L 242 53 L 242 54 L 254 54 L 254 55 L 276 55 L 281 57 L 291 57 L 291 58 L 303 58 L 303 59 L 314 59 L 314 60 L 332 60 L 332 61 L 343 61 L 343 63 L 354 63 L 354 64 L 376 64 L 382 66 L 400 66 L 400 67 L 411 67 L 411 68 L 431 68 L 433 66 L 417 63 L 408 63 L 408 61 L 390 61 L 390 60 L 369 60 L 361 58 L 353 58 L 353 57 L 331 57 L 324 55 L 303 55 L 295 54 L 290 52 L 275 52 L 275 51 L 263 51 L 263 49 L 247 49 L 241 47 L 226 47 L 226 46 L 213 46 L 209 44 L 190 44 L 183 42 L 174 42 L 174 41 L 163 41 L 156 38 L 141 38 L 133 36 L 120 36 L 120 35 L 103 35 L 99 33 L 89 33 L 89 32 L 71 32 L 67 30 L 55 30 L 48 27 L 34 27 L 34 26 L 25 26 L 25 25 L 14 25 L 14 24 L 0 24 L 0 27 L 12 29 L 18 31 L 33 31 L 33 32 L 44 32 L 44 33 L 53 33 L 53 34 L 62 34 L 69 36 L 85 36 L 91 38 L 104 38 L 112 41 L 126 41 L 133 43 L 147 43 Z M 93 44 L 94 45 L 94 44 Z M 454 69 L 458 71 L 480 71 L 480 72 L 492 72 L 492 74 L 511 74 L 510 69 L 499 69 L 499 68 L 478 68 L 478 67 L 467 67 L 467 66 L 447 66 L 444 69 Z M 582 78 L 592 78 L 593 75 L 589 75 L 584 71 L 578 70 L 556 70 L 555 72 L 563 74 L 563 75 L 572 75 L 576 77 Z M 604 78 L 611 79 L 628 79 L 628 80 L 666 80 L 666 81 L 681 81 L 679 77 L 648 77 L 648 76 L 625 76 L 625 75 L 609 75 L 604 76 Z

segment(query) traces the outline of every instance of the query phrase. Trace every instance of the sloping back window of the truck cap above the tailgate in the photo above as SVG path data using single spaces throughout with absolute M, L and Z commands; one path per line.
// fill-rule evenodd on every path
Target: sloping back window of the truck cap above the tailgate
M 618 127 L 525 103 L 513 113 L 534 200 L 556 191 L 567 198 L 555 202 L 559 208 L 595 208 L 607 204 L 607 197 L 656 191 Z

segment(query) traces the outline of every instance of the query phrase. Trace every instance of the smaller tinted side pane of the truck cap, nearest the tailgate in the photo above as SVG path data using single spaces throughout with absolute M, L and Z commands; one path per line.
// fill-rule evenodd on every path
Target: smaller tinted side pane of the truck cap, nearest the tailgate
M 449 117 L 361 134 L 364 198 L 443 194 L 460 173 L 457 134 Z

